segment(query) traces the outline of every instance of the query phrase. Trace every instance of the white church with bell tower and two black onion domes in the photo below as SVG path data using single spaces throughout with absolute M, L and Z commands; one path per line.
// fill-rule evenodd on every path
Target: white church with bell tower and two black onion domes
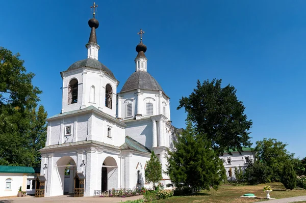
M 178 133 L 170 121 L 170 98 L 147 72 L 142 39 L 136 46 L 135 72 L 117 91 L 118 80 L 98 61 L 99 22 L 93 17 L 88 24 L 87 59 L 61 72 L 61 113 L 47 119 L 46 145 L 40 150 L 45 196 L 75 193 L 76 175 L 84 185 L 77 192 L 84 196 L 95 190 L 151 187 L 144 177 L 146 161 L 154 151 L 166 170 L 165 153 L 173 149 Z M 165 173 L 161 183 L 171 183 Z

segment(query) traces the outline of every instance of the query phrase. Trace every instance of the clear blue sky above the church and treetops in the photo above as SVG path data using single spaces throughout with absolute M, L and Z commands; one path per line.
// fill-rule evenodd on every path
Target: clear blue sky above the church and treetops
M 20 52 L 48 115 L 61 111 L 60 72 L 86 59 L 91 1 L 2 1 L 0 45 Z M 145 31 L 148 72 L 171 98 L 171 120 L 185 127 L 179 99 L 196 80 L 235 86 L 252 142 L 264 137 L 306 156 L 306 1 L 96 0 L 99 61 L 120 81 L 135 71 L 137 32 Z

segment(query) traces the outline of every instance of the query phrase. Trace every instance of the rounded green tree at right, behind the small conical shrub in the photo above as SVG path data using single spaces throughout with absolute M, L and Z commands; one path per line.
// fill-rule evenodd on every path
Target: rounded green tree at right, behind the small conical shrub
M 271 168 L 271 182 L 281 180 L 282 167 L 288 160 L 292 160 L 294 154 L 286 150 L 286 143 L 277 139 L 264 138 L 256 142 L 256 158 Z

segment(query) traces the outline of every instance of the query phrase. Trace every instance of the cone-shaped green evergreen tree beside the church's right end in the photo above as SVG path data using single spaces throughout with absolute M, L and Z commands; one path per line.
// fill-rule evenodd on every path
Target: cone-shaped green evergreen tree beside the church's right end
M 223 162 L 206 137 L 196 133 L 190 121 L 174 147 L 175 151 L 168 151 L 167 174 L 175 187 L 218 188 L 225 176 Z

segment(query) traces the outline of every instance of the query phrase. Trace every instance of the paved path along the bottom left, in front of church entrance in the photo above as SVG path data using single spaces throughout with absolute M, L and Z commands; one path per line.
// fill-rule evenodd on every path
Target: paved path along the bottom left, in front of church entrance
M 11 203 L 11 202 L 24 202 L 24 203 L 32 203 L 32 202 L 63 202 L 63 203 L 84 203 L 84 202 L 105 202 L 105 203 L 118 203 L 124 202 L 127 200 L 140 199 L 143 195 L 133 196 L 133 197 L 71 197 L 68 195 L 62 196 L 54 196 L 54 197 L 12 197 L 12 198 L 0 198 L 0 203 Z

